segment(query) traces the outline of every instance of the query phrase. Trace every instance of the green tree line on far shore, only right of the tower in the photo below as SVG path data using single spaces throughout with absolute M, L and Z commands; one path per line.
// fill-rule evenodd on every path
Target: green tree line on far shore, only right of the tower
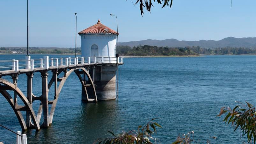
M 245 47 L 222 47 L 222 48 L 201 48 L 199 46 L 188 47 L 157 47 L 157 46 L 120 46 L 119 54 L 126 56 L 146 55 L 199 55 L 199 54 L 256 54 L 255 48 Z

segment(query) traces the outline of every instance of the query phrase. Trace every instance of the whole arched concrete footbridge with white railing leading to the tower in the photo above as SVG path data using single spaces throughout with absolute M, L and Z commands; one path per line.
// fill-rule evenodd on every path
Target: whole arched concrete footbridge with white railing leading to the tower
M 5 60 L 0 61 L 0 93 L 11 105 L 15 112 L 23 131 L 28 128 L 39 130 L 41 127 L 48 127 L 52 124 L 55 107 L 61 89 L 72 72 L 78 76 L 82 85 L 82 100 L 86 102 L 97 102 L 97 94 L 94 84 L 96 66 L 118 66 L 123 64 L 122 57 L 75 57 L 75 58 L 50 58 L 44 56 L 41 59 L 30 59 L 26 56 L 24 60 Z M 33 94 L 33 75 L 36 72 L 41 74 L 42 94 Z M 52 73 L 48 81 L 49 72 Z M 18 88 L 18 76 L 26 74 L 26 93 Z M 61 75 L 60 75 L 61 74 Z M 11 76 L 12 82 L 6 79 Z M 40 82 L 36 82 L 40 83 Z M 48 97 L 48 91 L 54 87 L 54 97 Z M 74 88 L 75 89 L 75 88 Z M 35 113 L 32 104 L 39 100 L 40 106 Z M 19 104 L 18 104 L 19 102 Z M 49 107 L 49 105 L 51 105 Z M 23 116 L 21 111 L 26 111 Z M 40 124 L 41 116 L 43 121 Z M 25 118 L 25 119 L 24 119 Z

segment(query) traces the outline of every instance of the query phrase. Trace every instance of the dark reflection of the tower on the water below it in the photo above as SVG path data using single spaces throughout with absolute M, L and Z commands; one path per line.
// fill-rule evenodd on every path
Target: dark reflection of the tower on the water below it
M 113 130 L 118 119 L 118 103 L 115 100 L 98 102 L 97 104 L 81 104 L 80 117 L 75 123 L 75 135 L 81 135 L 75 143 L 92 143 L 97 138 L 106 137 L 106 130 Z

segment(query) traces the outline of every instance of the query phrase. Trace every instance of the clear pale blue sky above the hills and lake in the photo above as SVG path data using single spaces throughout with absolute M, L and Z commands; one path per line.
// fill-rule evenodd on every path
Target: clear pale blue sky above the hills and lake
M 256 37 L 255 0 L 173 0 L 141 16 L 136 0 L 29 0 L 29 47 L 75 47 L 77 32 L 100 19 L 119 42 Z M 231 8 L 230 8 L 231 7 Z M 0 47 L 26 47 L 27 0 L 0 0 Z M 77 47 L 81 39 L 77 34 Z

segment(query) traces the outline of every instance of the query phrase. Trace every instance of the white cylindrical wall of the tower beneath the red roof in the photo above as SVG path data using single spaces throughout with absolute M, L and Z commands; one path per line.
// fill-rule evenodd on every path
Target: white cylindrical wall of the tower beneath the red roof
M 82 34 L 81 35 L 81 56 L 93 57 L 91 46 L 99 48 L 98 57 L 115 57 L 116 35 L 114 34 Z M 104 58 L 104 61 L 107 58 Z M 112 63 L 112 62 L 111 62 Z M 113 62 L 114 63 L 114 62 Z

